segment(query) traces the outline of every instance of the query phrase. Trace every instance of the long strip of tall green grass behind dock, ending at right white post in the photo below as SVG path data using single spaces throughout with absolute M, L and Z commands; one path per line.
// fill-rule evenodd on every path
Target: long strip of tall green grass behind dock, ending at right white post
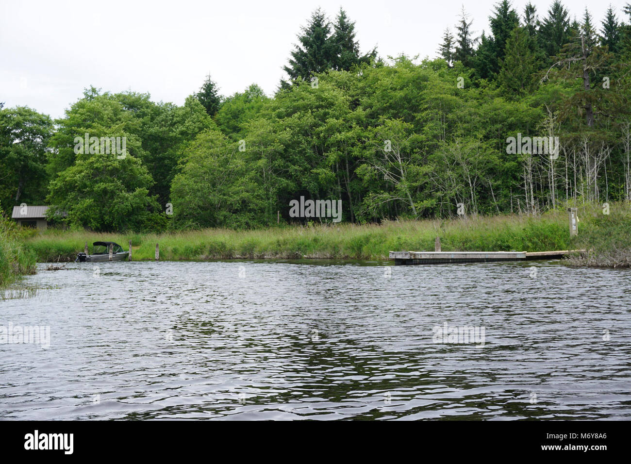
M 444 251 L 545 251 L 567 249 L 567 213 L 540 217 L 497 216 L 385 222 L 381 225 L 341 224 L 333 227 L 286 226 L 261 230 L 206 229 L 174 234 L 94 234 L 49 230 L 28 239 L 38 261 L 74 259 L 88 244 L 114 241 L 127 249 L 131 239 L 134 260 L 155 258 L 191 260 L 212 258 L 332 258 L 387 259 L 389 250 L 434 249 L 440 235 Z

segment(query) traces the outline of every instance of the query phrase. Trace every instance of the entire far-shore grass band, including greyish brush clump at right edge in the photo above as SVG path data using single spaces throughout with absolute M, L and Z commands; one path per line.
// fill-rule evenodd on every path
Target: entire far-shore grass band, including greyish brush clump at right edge
M 85 242 L 114 241 L 134 261 L 153 261 L 160 244 L 161 261 L 205 259 L 388 259 L 389 251 L 433 251 L 440 237 L 443 251 L 553 251 L 587 249 L 570 256 L 574 266 L 631 266 L 631 213 L 625 203 L 579 208 L 579 235 L 569 235 L 567 211 L 536 216 L 500 215 L 446 220 L 397 220 L 357 225 L 281 225 L 266 229 L 201 229 L 163 234 L 47 230 L 28 237 L 25 246 L 37 261 L 74 261 Z

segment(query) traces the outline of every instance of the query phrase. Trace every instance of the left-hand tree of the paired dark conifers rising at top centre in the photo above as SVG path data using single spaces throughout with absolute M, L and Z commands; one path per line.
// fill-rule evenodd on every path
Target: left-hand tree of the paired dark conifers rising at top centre
M 332 67 L 336 47 L 333 40 L 329 40 L 330 35 L 331 24 L 318 8 L 311 14 L 309 24 L 302 28 L 302 34 L 298 35 L 300 44 L 295 45 L 289 66 L 283 67 L 291 81 L 310 80 L 315 73 L 322 73 Z M 353 40 L 352 37 L 350 40 Z M 281 86 L 286 88 L 289 84 L 281 81 Z

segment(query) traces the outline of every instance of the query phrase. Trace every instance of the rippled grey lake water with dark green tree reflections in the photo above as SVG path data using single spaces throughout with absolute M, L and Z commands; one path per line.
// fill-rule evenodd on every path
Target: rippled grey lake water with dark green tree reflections
M 0 418 L 631 417 L 631 271 L 386 264 L 40 264 L 0 300 L 50 329 L 0 343 Z

